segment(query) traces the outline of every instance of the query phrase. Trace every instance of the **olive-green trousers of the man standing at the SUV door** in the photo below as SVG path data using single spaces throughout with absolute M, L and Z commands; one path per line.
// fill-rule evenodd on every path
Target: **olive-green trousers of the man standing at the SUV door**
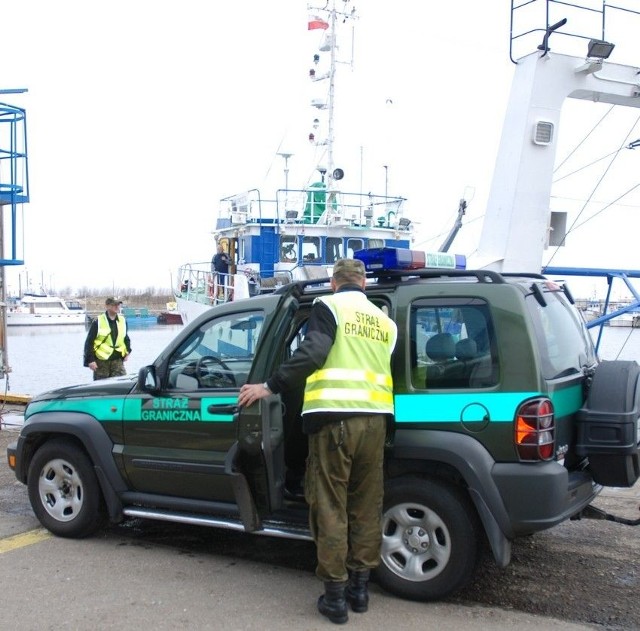
M 380 562 L 385 434 L 385 417 L 375 414 L 309 435 L 304 491 L 323 581 Z

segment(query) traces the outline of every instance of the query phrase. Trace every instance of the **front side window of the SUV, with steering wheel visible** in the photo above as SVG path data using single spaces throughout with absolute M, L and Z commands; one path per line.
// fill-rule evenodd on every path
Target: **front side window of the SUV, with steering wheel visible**
M 263 324 L 262 311 L 205 322 L 169 359 L 169 389 L 239 388 L 247 381 Z

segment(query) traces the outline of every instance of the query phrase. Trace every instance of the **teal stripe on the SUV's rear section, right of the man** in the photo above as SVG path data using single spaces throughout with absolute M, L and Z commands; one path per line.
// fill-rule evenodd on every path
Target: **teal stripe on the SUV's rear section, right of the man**
M 395 396 L 396 423 L 458 423 L 460 413 L 471 404 L 483 405 L 492 422 L 510 423 L 518 406 L 541 392 L 413 393 Z M 551 394 L 556 417 L 575 413 L 582 405 L 582 386 L 556 390 Z

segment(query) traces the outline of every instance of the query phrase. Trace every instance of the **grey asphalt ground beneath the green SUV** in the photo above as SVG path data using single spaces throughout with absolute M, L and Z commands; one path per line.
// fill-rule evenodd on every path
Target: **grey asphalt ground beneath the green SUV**
M 3 629 L 335 628 L 316 611 L 322 586 L 313 574 L 313 545 L 307 542 L 142 520 L 110 526 L 84 540 L 51 536 L 40 528 L 26 488 L 6 464 L 6 445 L 16 438 L 17 429 L 0 430 Z M 621 494 L 625 503 L 640 502 L 639 485 L 611 492 L 614 503 L 621 501 Z M 349 628 L 639 628 L 635 603 L 640 577 L 635 568 L 640 529 L 605 524 L 607 532 L 615 533 L 611 545 L 621 555 L 616 567 L 623 566 L 620 580 L 612 580 L 606 564 L 591 567 L 589 553 L 599 549 L 601 531 L 576 540 L 570 534 L 573 525 L 563 524 L 516 546 L 514 562 L 506 570 L 489 567 L 467 592 L 447 602 L 405 601 L 372 584 L 369 611 L 350 614 Z M 621 543 L 619 538 L 626 537 L 631 544 Z M 584 546 L 584 556 L 577 552 L 563 560 L 567 548 L 575 545 Z M 586 571 L 575 575 L 572 558 Z M 625 563 L 629 568 L 622 571 Z M 616 602 L 598 601 L 589 583 L 597 593 L 606 586 Z M 595 613 L 589 613 L 590 607 Z

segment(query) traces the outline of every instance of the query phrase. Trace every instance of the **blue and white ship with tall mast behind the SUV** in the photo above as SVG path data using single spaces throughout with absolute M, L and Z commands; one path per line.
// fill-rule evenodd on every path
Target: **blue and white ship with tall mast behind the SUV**
M 344 171 L 334 164 L 336 69 L 344 62 L 338 58 L 338 39 L 356 18 L 347 5 L 338 10 L 335 1 L 327 3 L 308 23 L 312 35 L 320 35 L 309 80 L 325 95 L 311 101 L 309 145 L 323 149 L 315 177 L 290 188 L 292 154 L 281 152 L 284 188 L 271 194 L 255 188 L 220 200 L 213 235 L 229 255 L 229 271 L 215 273 L 210 260 L 180 266 L 174 293 L 185 324 L 216 304 L 295 280 L 325 278 L 335 261 L 357 250 L 410 247 L 414 224 L 405 215 L 406 200 L 387 190 L 344 190 Z

